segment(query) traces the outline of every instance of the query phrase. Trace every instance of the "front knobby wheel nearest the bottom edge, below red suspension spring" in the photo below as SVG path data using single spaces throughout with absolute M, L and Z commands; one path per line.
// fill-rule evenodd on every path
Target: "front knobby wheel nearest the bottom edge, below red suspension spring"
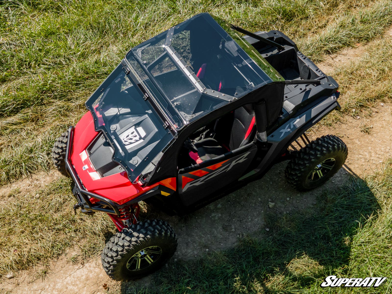
M 137 279 L 162 267 L 176 249 L 177 236 L 166 221 L 139 221 L 106 243 L 102 266 L 117 281 Z

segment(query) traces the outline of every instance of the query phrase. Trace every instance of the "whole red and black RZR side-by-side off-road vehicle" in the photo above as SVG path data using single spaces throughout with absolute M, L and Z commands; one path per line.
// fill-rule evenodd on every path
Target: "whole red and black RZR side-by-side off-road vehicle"
M 139 220 L 139 201 L 185 214 L 283 160 L 300 191 L 333 176 L 345 143 L 305 131 L 340 108 L 338 97 L 338 83 L 283 33 L 202 13 L 131 49 L 58 138 L 53 162 L 75 182 L 74 208 L 105 212 L 118 229 L 102 252 L 107 274 L 134 279 L 177 247 L 168 223 Z

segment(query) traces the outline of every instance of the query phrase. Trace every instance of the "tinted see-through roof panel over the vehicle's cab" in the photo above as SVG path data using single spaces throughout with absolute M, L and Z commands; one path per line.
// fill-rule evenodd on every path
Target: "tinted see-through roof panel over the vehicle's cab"
M 272 82 L 206 13 L 134 47 L 126 58 L 177 129 Z

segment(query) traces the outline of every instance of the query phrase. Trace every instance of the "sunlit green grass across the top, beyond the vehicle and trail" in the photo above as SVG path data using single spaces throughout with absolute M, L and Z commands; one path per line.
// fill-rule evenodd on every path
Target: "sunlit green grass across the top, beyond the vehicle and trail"
M 392 24 L 391 3 L 2 1 L 0 185 L 50 169 L 55 138 L 85 113 L 83 103 L 127 50 L 196 13 L 281 30 L 318 61 L 381 35 Z

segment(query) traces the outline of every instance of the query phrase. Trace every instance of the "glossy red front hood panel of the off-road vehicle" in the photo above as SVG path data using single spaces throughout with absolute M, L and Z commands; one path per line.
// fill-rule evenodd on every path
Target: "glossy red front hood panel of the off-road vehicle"
M 87 191 L 109 198 L 121 205 L 158 185 L 156 183 L 143 189 L 138 184 L 132 184 L 125 171 L 101 178 L 94 170 L 86 153 L 87 147 L 98 134 L 100 133 L 94 129 L 94 119 L 90 112 L 80 119 L 74 129 L 71 164 Z

